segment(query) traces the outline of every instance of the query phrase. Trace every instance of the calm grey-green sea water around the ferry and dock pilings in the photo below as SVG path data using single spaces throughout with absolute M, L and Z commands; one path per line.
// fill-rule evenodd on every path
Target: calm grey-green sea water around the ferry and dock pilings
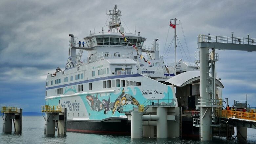
M 238 144 L 238 143 L 256 143 L 256 130 L 247 129 L 248 139 L 246 141 L 235 140 L 222 140 L 213 138 L 211 142 L 200 142 L 197 140 L 180 140 L 178 138 L 162 139 L 162 138 L 143 138 L 131 140 L 129 136 L 112 136 L 112 135 L 99 135 L 99 134 L 81 134 L 67 132 L 67 136 L 54 136 L 47 137 L 44 135 L 44 119 L 43 116 L 23 116 L 22 134 L 3 134 L 2 132 L 2 119 L 0 120 L 0 143 L 38 143 L 38 144 Z M 13 130 L 14 131 L 14 130 Z M 56 133 L 56 132 L 55 132 Z M 236 133 L 235 133 L 236 134 Z

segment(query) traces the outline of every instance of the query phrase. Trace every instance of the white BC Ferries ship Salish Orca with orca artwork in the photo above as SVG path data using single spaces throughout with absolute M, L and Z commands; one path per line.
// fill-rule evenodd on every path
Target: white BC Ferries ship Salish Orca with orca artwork
M 131 120 L 120 113 L 123 106 L 172 99 L 178 107 L 175 85 L 164 82 L 198 71 L 195 63 L 164 63 L 158 39 L 147 47 L 140 32 L 125 31 L 117 5 L 108 15 L 108 31 L 90 33 L 82 40 L 69 34 L 65 69 L 58 67 L 47 75 L 45 103 L 67 108 L 69 132 L 129 135 Z M 84 51 L 87 59 L 81 60 Z

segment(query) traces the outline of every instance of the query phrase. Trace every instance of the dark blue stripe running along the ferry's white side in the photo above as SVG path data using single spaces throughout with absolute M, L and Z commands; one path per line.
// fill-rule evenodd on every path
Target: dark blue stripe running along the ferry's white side
M 115 79 L 115 78 L 124 78 L 124 77 L 138 77 L 138 76 L 143 76 L 143 75 L 141 75 L 139 73 L 136 73 L 136 74 L 129 74 L 129 75 L 105 76 L 105 77 L 99 77 L 99 78 L 95 78 L 95 79 L 84 80 L 84 81 L 74 82 L 74 83 L 65 84 L 65 85 L 53 86 L 53 87 L 46 88 L 45 90 L 67 87 L 67 86 L 83 84 L 83 83 L 88 83 L 88 82 L 94 82 L 94 81 L 99 81 L 99 80 L 105 80 L 105 79 Z

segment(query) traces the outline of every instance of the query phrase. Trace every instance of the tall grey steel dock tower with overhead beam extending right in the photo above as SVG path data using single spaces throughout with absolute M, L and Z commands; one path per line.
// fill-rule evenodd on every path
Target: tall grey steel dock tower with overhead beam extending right
M 218 107 L 218 99 L 215 99 L 215 62 L 218 61 L 219 50 L 256 51 L 255 39 L 242 37 L 199 35 L 198 47 L 200 49 L 200 134 L 201 140 L 211 140 L 212 109 Z M 209 49 L 212 52 L 209 52 Z M 198 62 L 196 60 L 196 62 Z

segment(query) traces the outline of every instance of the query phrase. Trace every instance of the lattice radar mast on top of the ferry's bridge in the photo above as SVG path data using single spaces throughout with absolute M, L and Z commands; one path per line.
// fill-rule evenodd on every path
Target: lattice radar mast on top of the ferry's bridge
M 115 32 L 115 30 L 121 25 L 121 21 L 119 18 L 122 15 L 121 10 L 117 10 L 117 5 L 115 5 L 114 10 L 109 10 L 109 13 L 107 13 L 107 15 L 112 16 L 110 18 L 111 20 L 107 24 L 107 26 L 109 27 L 109 32 Z

